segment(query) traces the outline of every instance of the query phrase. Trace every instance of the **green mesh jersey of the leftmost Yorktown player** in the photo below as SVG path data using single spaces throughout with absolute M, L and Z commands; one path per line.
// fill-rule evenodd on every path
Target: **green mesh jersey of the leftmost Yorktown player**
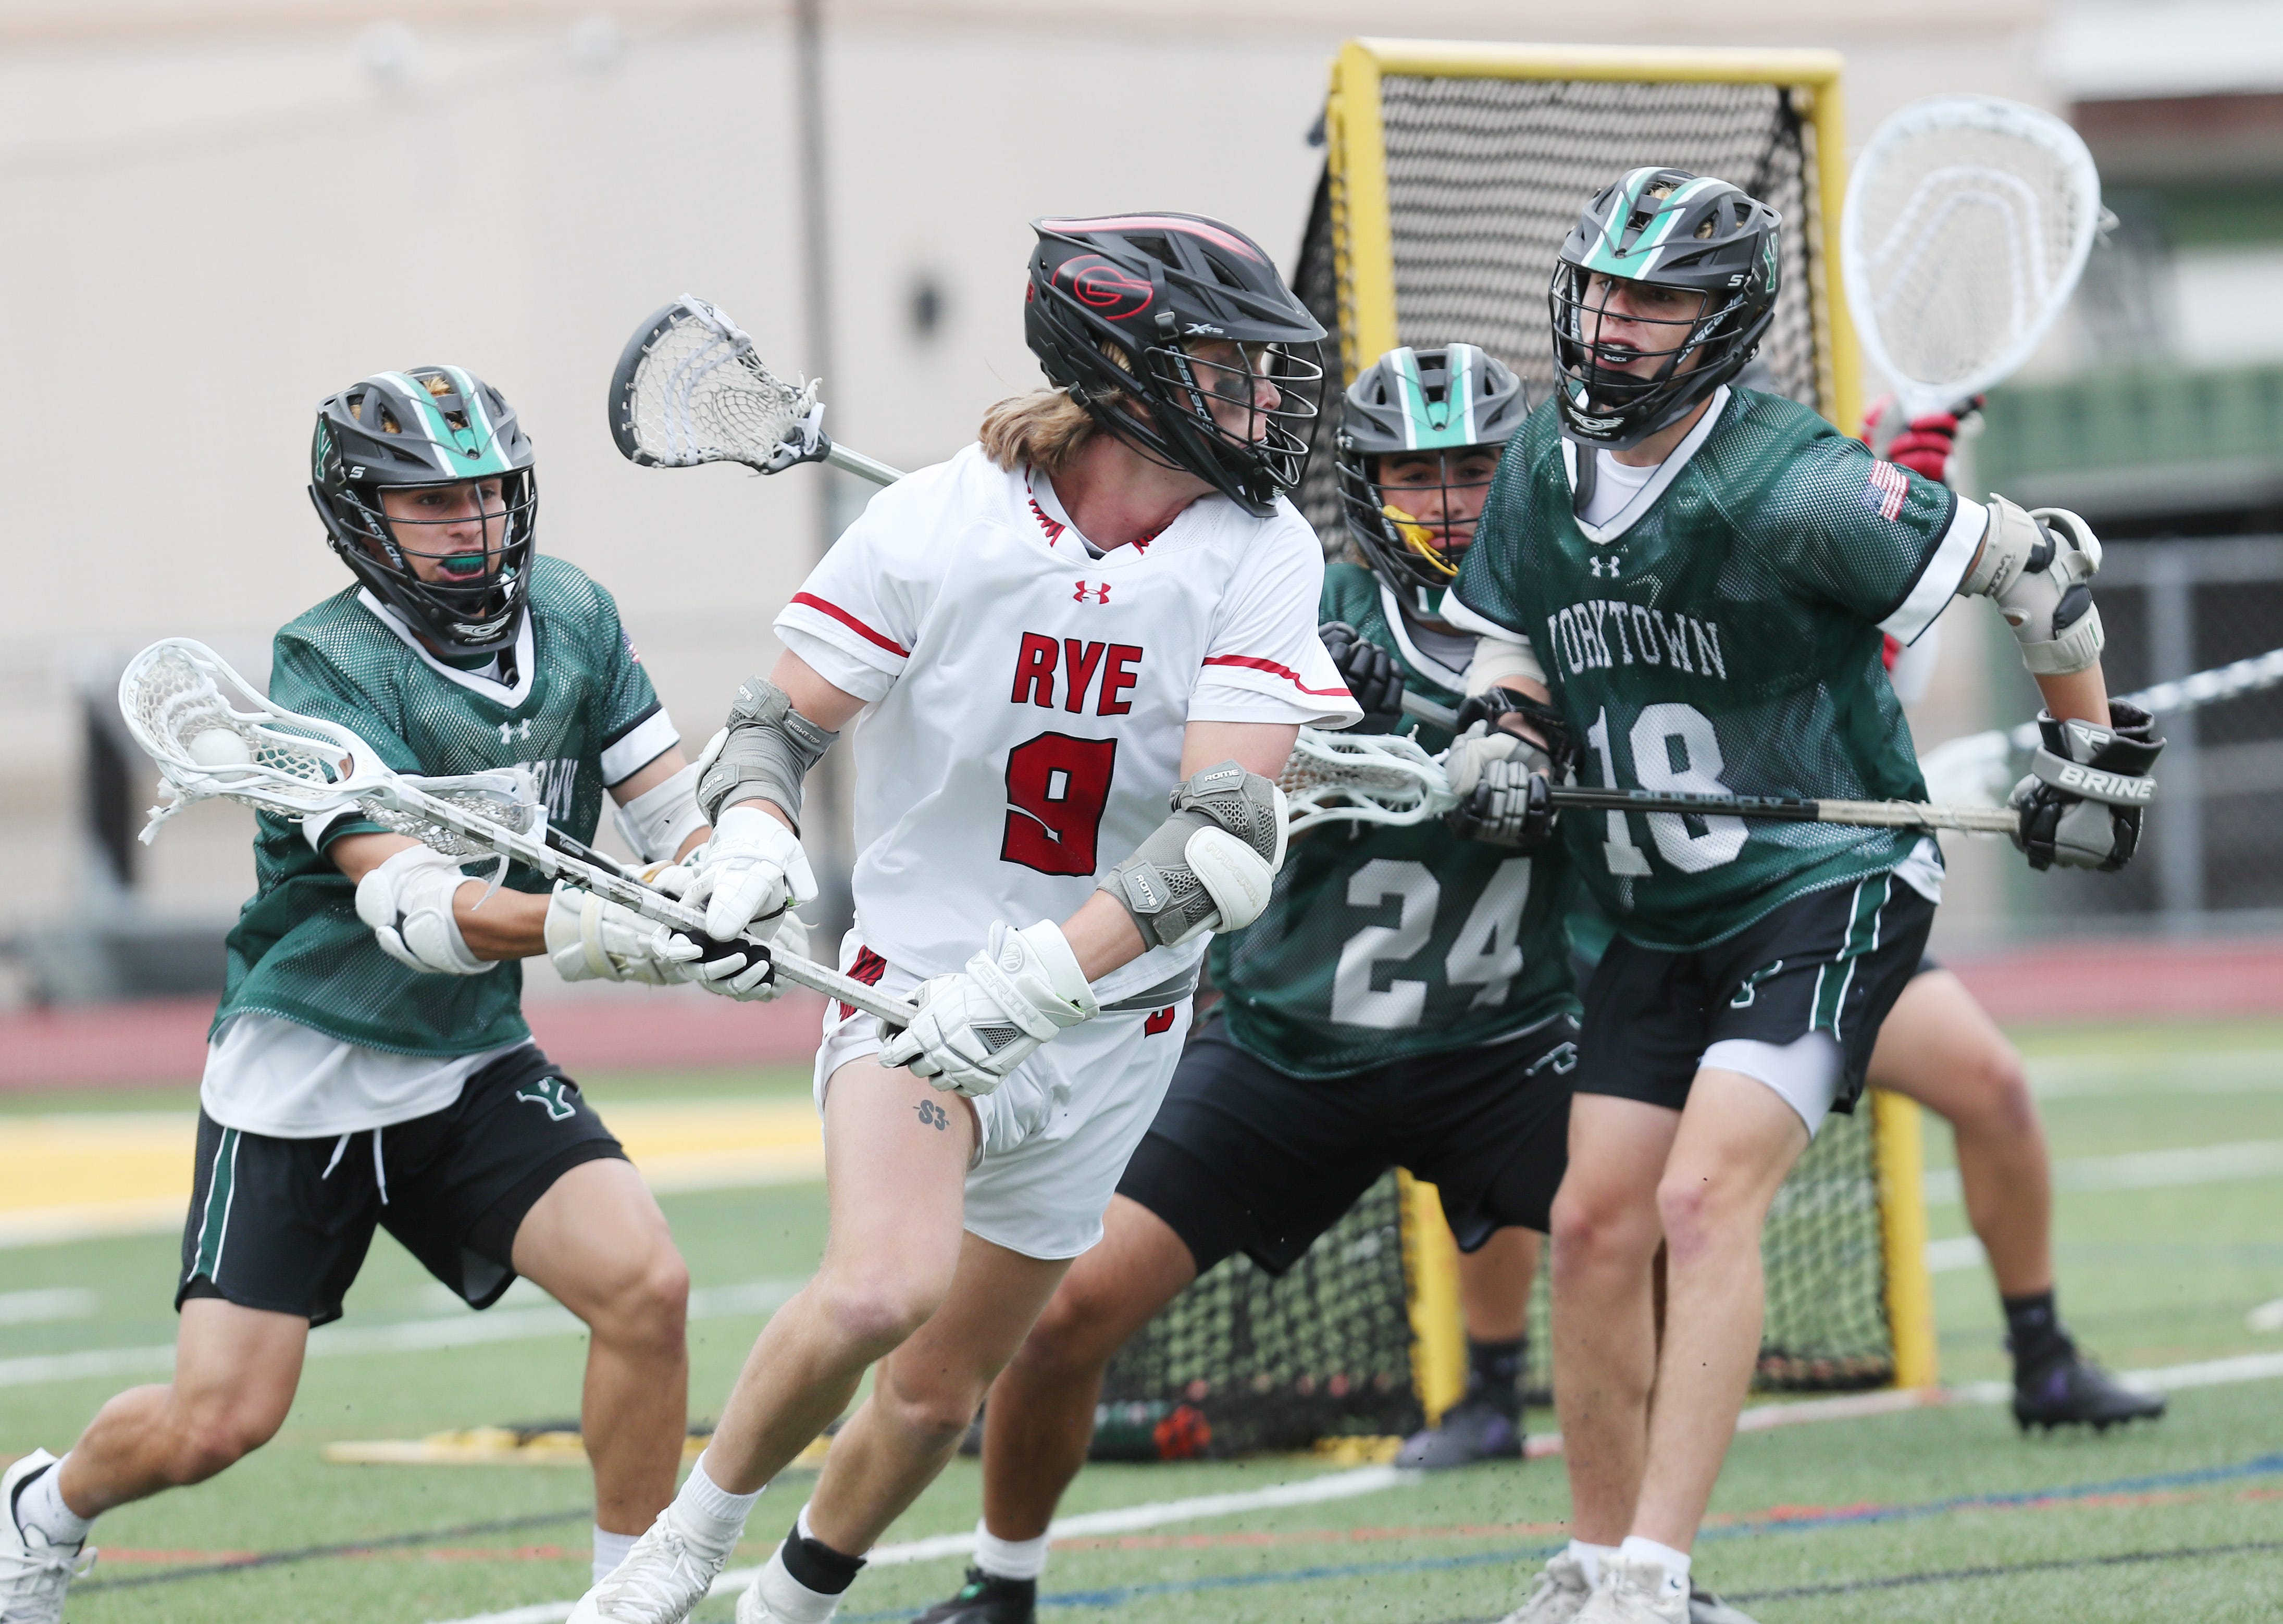
M 384 620 L 363 588 L 326 598 L 276 634 L 269 698 L 356 730 L 400 773 L 530 766 L 548 821 L 591 839 L 603 785 L 676 744 L 610 593 L 562 559 L 532 563 L 516 682 L 436 661 Z M 639 757 L 639 760 L 637 760 Z M 219 1029 L 260 1010 L 397 1054 L 477 1054 L 530 1036 L 523 967 L 482 976 L 422 974 L 388 958 L 356 917 L 356 887 L 310 848 L 299 823 L 263 812 L 253 837 L 258 890 L 228 935 Z M 374 833 L 340 819 L 324 842 Z M 507 885 L 541 892 L 523 867 Z

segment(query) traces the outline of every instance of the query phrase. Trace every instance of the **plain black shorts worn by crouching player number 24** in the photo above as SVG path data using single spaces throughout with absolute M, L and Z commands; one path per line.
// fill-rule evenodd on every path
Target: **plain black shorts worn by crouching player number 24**
M 1575 1070 L 1568 1015 L 1511 1042 L 1338 1079 L 1285 1077 L 1212 1022 L 1180 1056 L 1119 1195 L 1164 1218 L 1199 1275 L 1231 1252 L 1281 1275 L 1388 1168 L 1409 1168 L 1473 1252 L 1507 1225 L 1546 1229 Z

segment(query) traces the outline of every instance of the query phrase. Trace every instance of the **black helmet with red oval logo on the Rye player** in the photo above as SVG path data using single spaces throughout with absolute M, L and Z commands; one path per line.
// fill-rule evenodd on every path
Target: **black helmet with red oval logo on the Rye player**
M 1324 328 L 1260 244 L 1203 214 L 1034 219 L 1032 230 L 1023 335 L 1048 381 L 1151 461 L 1256 518 L 1274 513 L 1308 465 Z M 1253 381 L 1192 356 L 1199 340 L 1244 347 L 1278 404 L 1251 406 Z M 1224 429 L 1212 397 L 1242 401 L 1253 433 Z

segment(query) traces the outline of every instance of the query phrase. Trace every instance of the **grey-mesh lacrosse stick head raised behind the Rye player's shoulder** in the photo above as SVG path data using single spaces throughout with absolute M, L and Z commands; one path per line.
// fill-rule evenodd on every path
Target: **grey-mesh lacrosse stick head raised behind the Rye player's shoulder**
M 904 474 L 824 433 L 822 379 L 785 383 L 717 306 L 683 294 L 635 328 L 610 374 L 610 438 L 630 463 L 831 463 L 877 486 Z

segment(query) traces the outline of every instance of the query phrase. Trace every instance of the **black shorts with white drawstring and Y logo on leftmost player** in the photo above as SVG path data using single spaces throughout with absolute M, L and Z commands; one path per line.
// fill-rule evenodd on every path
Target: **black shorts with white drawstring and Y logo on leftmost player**
M 443 1111 L 384 1129 L 269 1138 L 201 1111 L 174 1305 L 224 1298 L 324 1325 L 340 1318 L 377 1225 L 468 1307 L 491 1307 L 516 1280 L 523 1213 L 605 1156 L 626 1152 L 537 1045 L 475 1072 Z

